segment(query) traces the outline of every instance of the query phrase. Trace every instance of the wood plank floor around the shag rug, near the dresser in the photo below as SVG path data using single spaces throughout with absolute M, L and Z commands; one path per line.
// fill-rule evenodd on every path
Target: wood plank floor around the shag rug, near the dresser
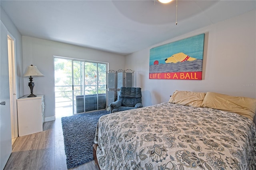
M 21 136 L 4 170 L 67 170 L 61 119 L 44 122 L 43 132 Z M 94 160 L 69 170 L 99 170 Z

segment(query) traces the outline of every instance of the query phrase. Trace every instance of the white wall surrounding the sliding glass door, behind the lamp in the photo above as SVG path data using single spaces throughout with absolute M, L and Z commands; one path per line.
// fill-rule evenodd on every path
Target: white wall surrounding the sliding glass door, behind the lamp
M 53 56 L 108 62 L 109 70 L 119 70 L 125 68 L 125 57 L 118 54 L 101 52 L 98 50 L 92 50 L 90 48 L 82 48 L 28 36 L 22 36 L 22 44 L 23 72 L 26 71 L 27 66 L 33 64 L 34 66 L 37 66 L 38 70 L 40 70 L 42 74 L 44 74 L 44 77 L 33 78 L 33 82 L 35 84 L 33 90 L 34 94 L 45 95 L 46 121 L 55 119 Z M 24 94 L 30 94 L 28 82 L 29 79 L 24 78 Z

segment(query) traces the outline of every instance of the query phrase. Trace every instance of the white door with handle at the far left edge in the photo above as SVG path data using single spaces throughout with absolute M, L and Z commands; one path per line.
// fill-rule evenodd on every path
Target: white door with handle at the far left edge
M 7 29 L 2 22 L 0 28 L 0 102 L 6 102 L 0 105 L 0 170 L 3 170 L 12 152 L 12 135 Z

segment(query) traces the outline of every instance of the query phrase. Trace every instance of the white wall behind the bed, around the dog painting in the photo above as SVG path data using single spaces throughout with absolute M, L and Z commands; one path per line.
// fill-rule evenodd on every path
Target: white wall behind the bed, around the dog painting
M 256 98 L 256 11 L 195 30 L 126 56 L 142 88 L 142 104 L 169 100 L 175 90 L 218 92 Z M 171 30 L 170 30 L 171 31 Z M 202 80 L 149 79 L 150 48 L 205 33 Z

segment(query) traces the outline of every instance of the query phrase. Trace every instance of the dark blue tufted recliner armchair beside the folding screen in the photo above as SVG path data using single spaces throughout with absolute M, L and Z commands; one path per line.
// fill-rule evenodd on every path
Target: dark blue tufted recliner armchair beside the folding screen
M 142 108 L 141 88 L 121 87 L 118 100 L 110 103 L 110 113 Z

